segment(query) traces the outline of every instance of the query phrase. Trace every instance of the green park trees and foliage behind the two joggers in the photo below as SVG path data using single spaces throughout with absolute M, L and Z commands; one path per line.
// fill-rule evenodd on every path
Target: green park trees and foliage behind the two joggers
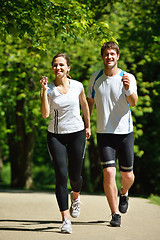
M 53 81 L 58 52 L 71 60 L 71 76 L 87 93 L 91 74 L 103 68 L 100 48 L 119 44 L 118 66 L 135 75 L 138 104 L 131 108 L 135 183 L 130 193 L 160 195 L 160 1 L 1 0 L 0 188 L 55 189 L 46 145 L 49 119 L 40 113 L 40 79 Z M 96 109 L 87 141 L 83 188 L 103 192 L 96 142 Z M 117 184 L 120 174 L 117 167 Z M 69 182 L 68 187 L 70 188 Z

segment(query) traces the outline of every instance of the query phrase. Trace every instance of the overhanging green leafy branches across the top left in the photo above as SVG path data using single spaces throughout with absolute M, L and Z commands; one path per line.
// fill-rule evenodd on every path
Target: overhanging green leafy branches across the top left
M 59 36 L 64 42 L 68 38 L 77 40 L 86 35 L 90 39 L 110 35 L 108 25 L 97 22 L 87 4 L 69 0 L 3 0 L 0 3 L 0 29 L 3 40 L 7 34 L 32 39 L 32 46 L 47 49 L 50 33 L 52 40 Z M 50 32 L 50 33 L 49 33 Z

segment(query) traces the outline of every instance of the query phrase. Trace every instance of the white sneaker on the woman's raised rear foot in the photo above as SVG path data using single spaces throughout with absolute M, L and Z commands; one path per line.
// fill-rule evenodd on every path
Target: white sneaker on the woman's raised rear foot
M 73 218 L 76 218 L 80 215 L 80 195 L 78 196 L 77 199 L 73 199 L 73 192 L 71 192 L 70 194 L 70 198 L 71 198 L 71 207 L 69 209 L 70 211 L 70 215 Z

